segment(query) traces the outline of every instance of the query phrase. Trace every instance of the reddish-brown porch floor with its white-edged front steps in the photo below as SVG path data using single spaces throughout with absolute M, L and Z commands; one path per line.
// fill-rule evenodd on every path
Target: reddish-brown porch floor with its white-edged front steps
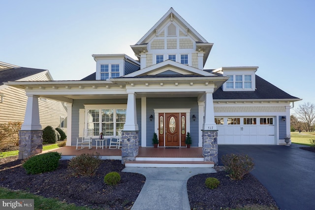
M 121 149 L 100 149 L 96 147 L 75 149 L 75 146 L 64 146 L 50 151 L 62 153 L 63 160 L 70 160 L 77 155 L 99 153 L 102 159 L 121 160 Z M 45 151 L 47 152 L 47 151 Z M 177 167 L 177 168 L 209 168 L 214 166 L 212 161 L 204 161 L 202 147 L 139 147 L 135 161 L 126 161 L 126 167 Z

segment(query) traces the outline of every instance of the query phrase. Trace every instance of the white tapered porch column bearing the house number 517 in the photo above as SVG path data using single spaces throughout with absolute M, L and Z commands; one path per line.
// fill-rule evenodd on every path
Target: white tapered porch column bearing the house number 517
M 215 110 L 213 106 L 212 92 L 206 92 L 205 99 L 205 120 L 203 130 L 217 130 L 215 123 Z

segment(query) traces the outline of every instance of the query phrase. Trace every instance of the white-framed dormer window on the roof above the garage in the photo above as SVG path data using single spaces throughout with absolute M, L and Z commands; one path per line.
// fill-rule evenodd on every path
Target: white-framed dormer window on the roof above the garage
M 252 75 L 229 75 L 226 89 L 252 89 Z

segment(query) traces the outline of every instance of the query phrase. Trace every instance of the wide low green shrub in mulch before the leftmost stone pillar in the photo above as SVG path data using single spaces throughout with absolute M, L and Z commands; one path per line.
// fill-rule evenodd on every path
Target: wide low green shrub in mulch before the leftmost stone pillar
M 52 172 L 58 168 L 61 153 L 47 152 L 32 156 L 22 166 L 28 174 Z

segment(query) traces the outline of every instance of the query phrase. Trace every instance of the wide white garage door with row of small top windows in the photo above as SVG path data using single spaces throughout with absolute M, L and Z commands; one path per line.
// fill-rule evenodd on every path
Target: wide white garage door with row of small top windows
M 218 144 L 275 144 L 274 117 L 216 117 Z

